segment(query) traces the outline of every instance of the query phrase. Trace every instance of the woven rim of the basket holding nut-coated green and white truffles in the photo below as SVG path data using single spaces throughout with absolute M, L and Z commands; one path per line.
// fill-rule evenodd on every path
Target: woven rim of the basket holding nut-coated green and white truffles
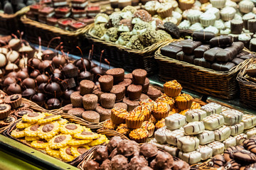
M 125 47 L 124 45 L 117 45 L 114 42 L 108 42 L 108 41 L 105 41 L 105 40 L 100 40 L 100 38 L 98 38 L 97 36 L 95 36 L 91 33 L 93 27 L 94 27 L 94 23 L 90 24 L 89 28 L 87 29 L 87 31 L 85 33 L 85 36 L 87 38 L 89 38 L 90 40 L 101 42 L 101 43 L 103 43 L 105 45 L 108 45 L 108 46 L 117 47 L 117 48 L 119 48 L 119 50 L 125 50 L 127 52 L 137 53 L 139 55 L 154 52 L 159 47 L 161 47 L 161 45 L 166 45 L 166 42 L 169 42 L 169 40 L 164 40 L 164 41 L 156 42 L 153 45 L 144 48 L 143 50 L 133 50 L 131 48 Z M 174 41 L 174 40 L 176 40 L 176 39 L 172 39 L 172 41 Z

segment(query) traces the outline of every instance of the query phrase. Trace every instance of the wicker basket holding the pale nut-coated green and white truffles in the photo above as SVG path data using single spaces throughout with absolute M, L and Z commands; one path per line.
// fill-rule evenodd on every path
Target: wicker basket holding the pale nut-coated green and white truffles
M 94 59 L 99 61 L 101 51 L 104 50 L 103 57 L 114 67 L 122 67 L 129 72 L 132 72 L 134 69 L 146 69 L 148 74 L 153 74 L 157 71 L 154 52 L 161 45 L 166 45 L 166 41 L 155 43 L 144 50 L 132 50 L 123 45 L 117 45 L 114 42 L 100 40 L 100 38 L 92 35 L 91 30 L 93 26 L 94 24 L 92 23 L 85 36 L 94 45 L 92 56 Z

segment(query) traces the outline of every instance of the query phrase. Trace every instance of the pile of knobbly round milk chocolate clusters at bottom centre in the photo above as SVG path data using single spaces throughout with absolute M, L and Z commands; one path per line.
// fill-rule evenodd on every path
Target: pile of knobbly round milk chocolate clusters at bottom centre
M 139 145 L 137 142 L 113 137 L 107 146 L 99 146 L 93 152 L 93 159 L 83 166 L 85 170 L 160 170 L 190 169 L 180 159 L 161 152 L 151 144 Z

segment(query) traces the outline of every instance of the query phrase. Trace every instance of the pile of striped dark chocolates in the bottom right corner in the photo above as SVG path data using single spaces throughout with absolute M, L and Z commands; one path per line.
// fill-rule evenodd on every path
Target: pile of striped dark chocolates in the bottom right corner
M 243 142 L 243 146 L 228 147 L 223 155 L 217 154 L 213 157 L 208 166 L 226 169 L 256 169 L 256 137 L 251 137 Z

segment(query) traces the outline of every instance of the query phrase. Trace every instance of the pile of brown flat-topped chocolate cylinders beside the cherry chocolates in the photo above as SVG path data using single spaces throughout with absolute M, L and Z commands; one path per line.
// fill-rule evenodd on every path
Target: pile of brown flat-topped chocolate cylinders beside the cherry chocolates
M 115 68 L 105 74 L 96 84 L 90 80 L 80 81 L 80 91 L 71 94 L 72 104 L 63 107 L 63 112 L 99 123 L 110 119 L 112 108 L 132 111 L 139 106 L 140 99 L 161 95 L 161 91 L 149 87 L 144 69 L 124 75 L 124 69 Z

